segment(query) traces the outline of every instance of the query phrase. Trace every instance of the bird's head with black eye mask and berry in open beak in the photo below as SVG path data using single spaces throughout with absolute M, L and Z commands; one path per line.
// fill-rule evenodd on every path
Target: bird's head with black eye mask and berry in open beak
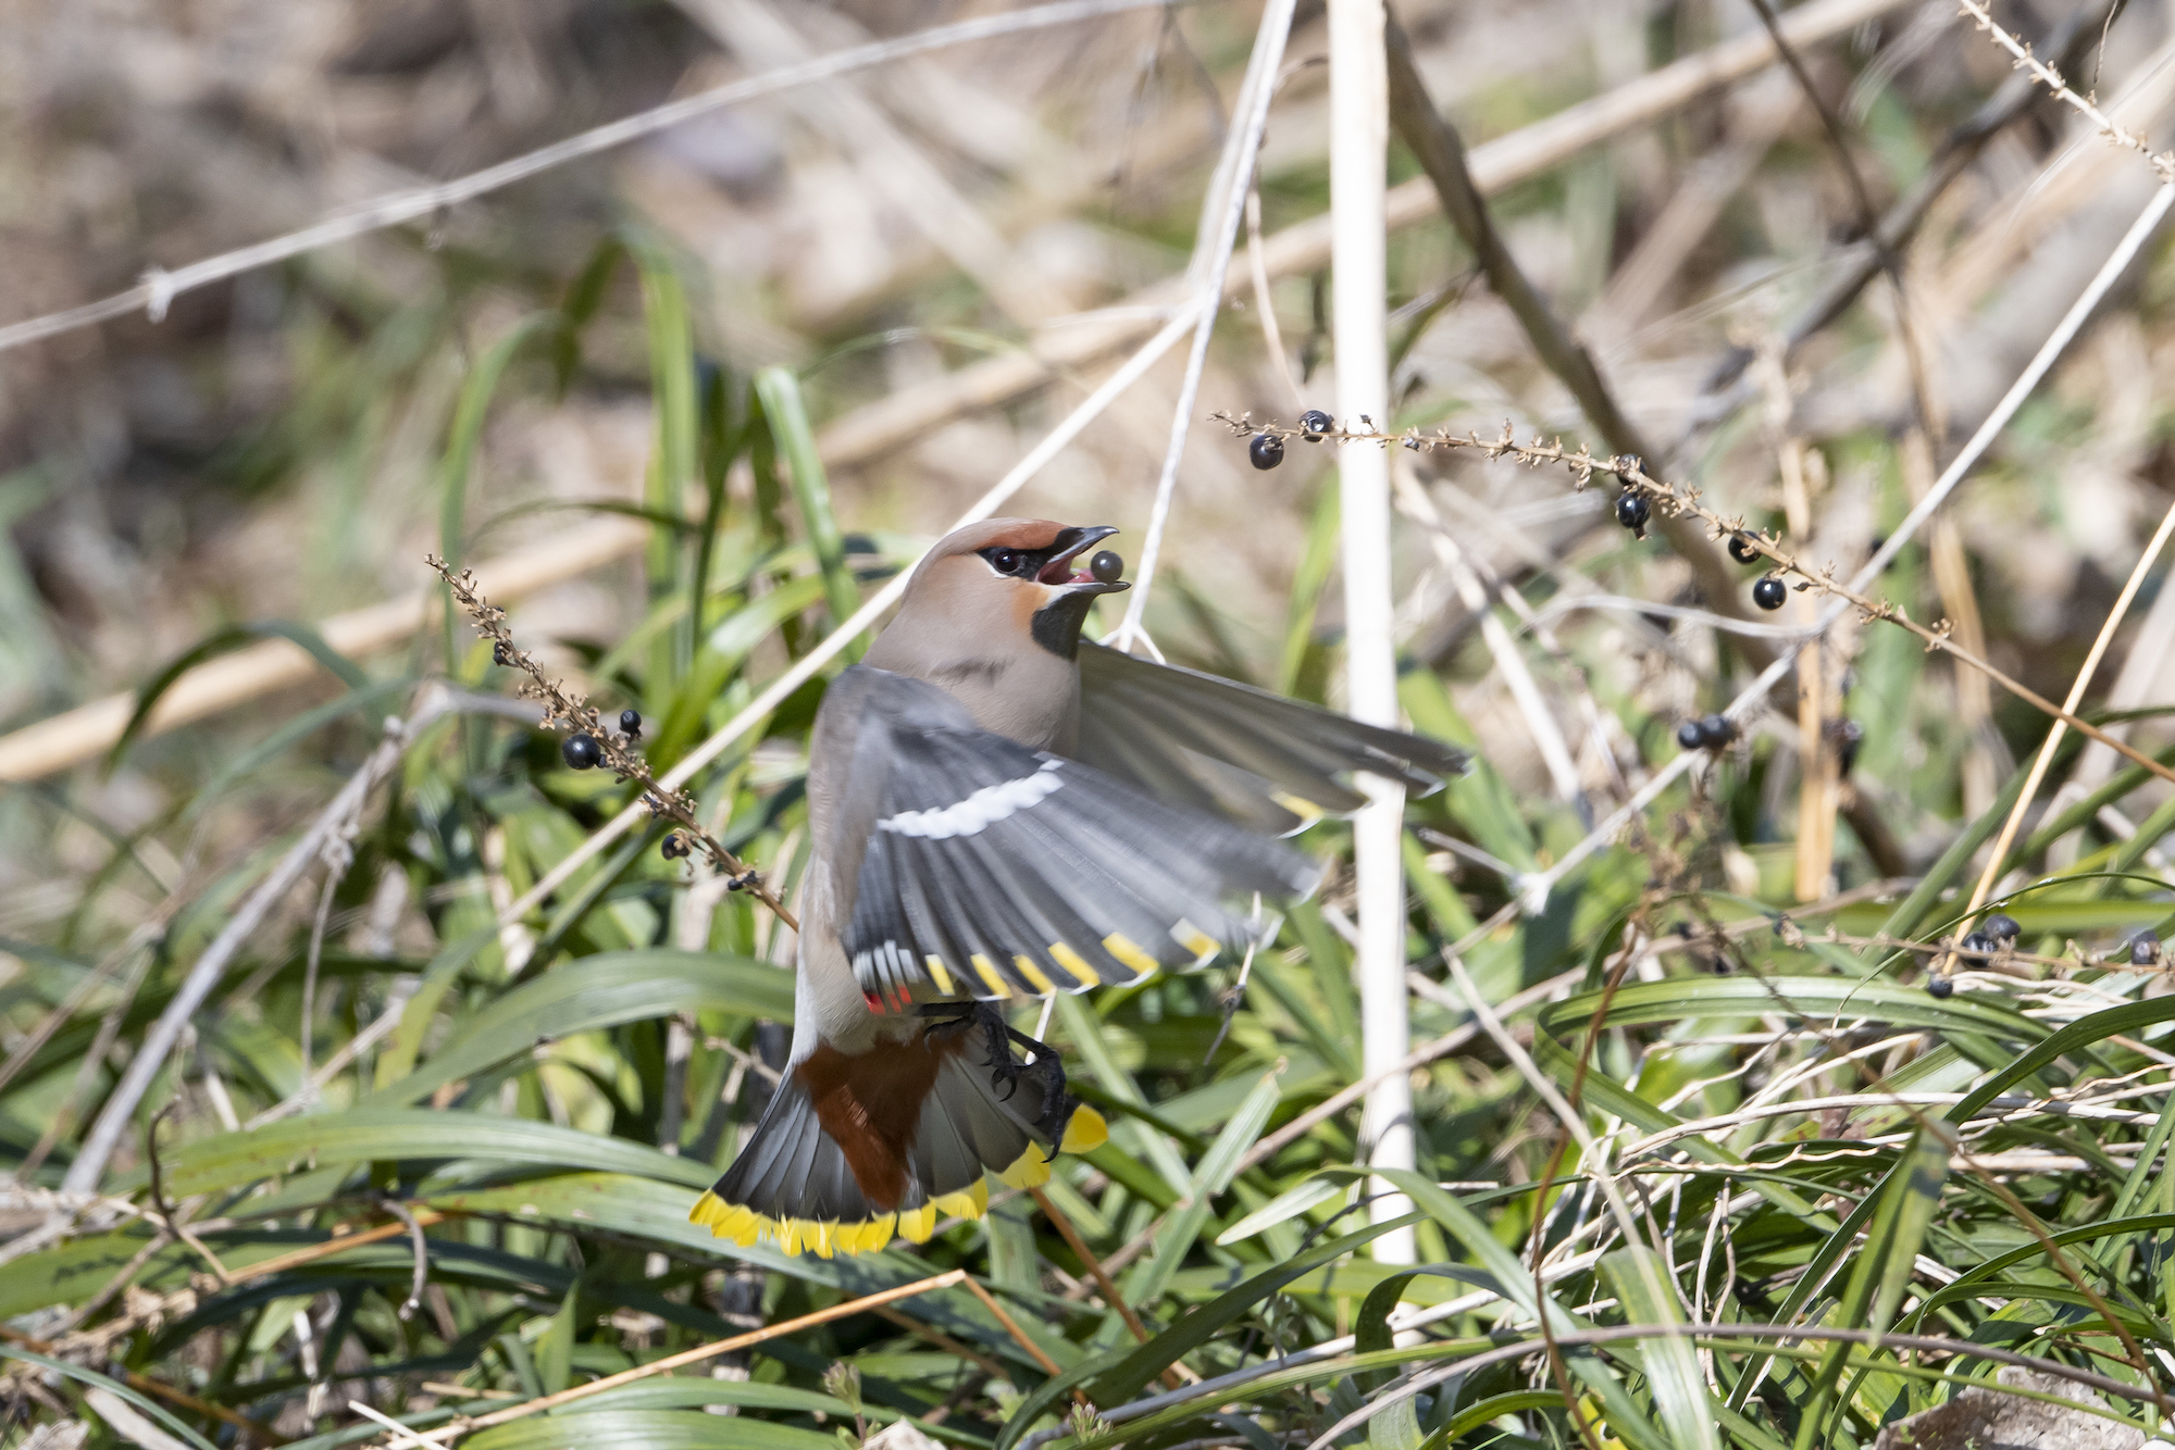
M 968 524 L 940 539 L 916 567 L 907 609 L 933 609 L 968 628 L 1020 630 L 1072 659 L 1094 600 L 1129 589 L 1116 554 L 1096 554 L 1090 567 L 1079 567 L 1081 554 L 1114 533 L 1109 524 L 1048 520 Z

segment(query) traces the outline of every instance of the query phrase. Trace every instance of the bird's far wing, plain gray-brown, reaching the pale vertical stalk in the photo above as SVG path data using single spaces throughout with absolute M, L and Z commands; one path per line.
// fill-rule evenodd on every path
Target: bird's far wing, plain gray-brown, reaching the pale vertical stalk
M 1359 724 L 1198 670 L 1081 643 L 1079 759 L 1194 811 L 1285 835 L 1314 813 L 1366 804 L 1353 772 L 1440 789 L 1466 772 L 1455 746 Z

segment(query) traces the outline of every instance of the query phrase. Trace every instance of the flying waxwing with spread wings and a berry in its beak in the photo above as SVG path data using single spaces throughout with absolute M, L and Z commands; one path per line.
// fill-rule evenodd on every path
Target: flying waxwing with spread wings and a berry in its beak
M 985 520 L 931 548 L 816 713 L 794 1035 L 689 1220 L 787 1254 L 927 1241 L 987 1178 L 1048 1180 L 1107 1126 L 1003 1002 L 1138 983 L 1275 935 L 1322 867 L 1285 837 L 1429 791 L 1453 746 L 1083 637 L 1129 585 L 1107 524 Z M 1033 1057 L 1022 1063 L 1014 1046 Z

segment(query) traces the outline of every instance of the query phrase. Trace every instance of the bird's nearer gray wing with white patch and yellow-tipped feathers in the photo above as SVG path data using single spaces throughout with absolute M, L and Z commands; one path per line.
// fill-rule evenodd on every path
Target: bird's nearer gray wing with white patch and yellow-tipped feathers
M 859 850 L 842 937 L 872 1000 L 916 983 L 1046 996 L 1198 965 L 1259 935 L 1255 891 L 1288 900 L 1320 880 L 1275 839 L 977 728 L 935 685 L 866 665 L 840 685 L 857 739 L 837 841 Z

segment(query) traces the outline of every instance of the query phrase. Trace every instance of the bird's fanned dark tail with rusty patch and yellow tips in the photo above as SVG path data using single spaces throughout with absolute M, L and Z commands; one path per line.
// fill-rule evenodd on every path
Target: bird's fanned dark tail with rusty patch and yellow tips
M 1064 1091 L 1051 1052 L 1022 1067 L 1003 1017 L 974 1007 L 918 1037 L 844 1054 L 818 1046 L 779 1080 L 770 1109 L 689 1222 L 787 1254 L 922 1243 L 942 1217 L 981 1217 L 985 1174 L 1035 1187 L 1057 1152 L 1088 1152 L 1103 1117 Z

